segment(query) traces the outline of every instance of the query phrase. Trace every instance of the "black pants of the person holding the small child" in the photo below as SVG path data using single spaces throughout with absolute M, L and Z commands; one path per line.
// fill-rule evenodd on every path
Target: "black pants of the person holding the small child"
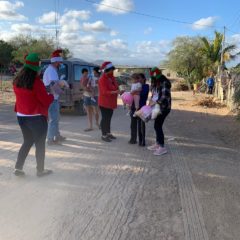
M 145 145 L 145 122 L 139 117 L 131 116 L 131 139 L 130 141 L 136 142 L 138 135 L 139 145 Z

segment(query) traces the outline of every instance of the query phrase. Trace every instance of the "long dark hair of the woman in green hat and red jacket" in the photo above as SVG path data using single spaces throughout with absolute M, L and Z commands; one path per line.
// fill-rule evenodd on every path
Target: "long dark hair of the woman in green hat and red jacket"
M 17 76 L 13 79 L 13 84 L 18 88 L 32 90 L 36 76 L 37 72 L 29 68 L 22 68 Z

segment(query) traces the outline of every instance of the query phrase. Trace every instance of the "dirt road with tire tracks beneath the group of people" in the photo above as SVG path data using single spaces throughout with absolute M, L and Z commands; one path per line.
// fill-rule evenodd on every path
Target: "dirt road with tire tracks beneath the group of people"
M 86 134 L 85 117 L 64 114 L 68 140 L 47 148 L 54 174 L 40 179 L 34 149 L 26 177 L 12 174 L 21 133 L 12 106 L 0 105 L 0 240 L 239 239 L 239 145 L 230 140 L 240 128 L 222 109 L 192 100 L 174 93 L 162 157 L 127 143 L 122 107 L 112 143 L 101 142 L 97 129 Z M 147 131 L 150 144 L 152 123 Z

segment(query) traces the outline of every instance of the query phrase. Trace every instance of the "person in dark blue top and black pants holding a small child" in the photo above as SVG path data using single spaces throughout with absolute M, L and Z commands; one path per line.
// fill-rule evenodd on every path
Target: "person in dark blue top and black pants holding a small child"
M 143 73 L 140 74 L 133 74 L 132 78 L 138 78 L 139 82 L 142 84 L 142 88 L 140 91 L 140 100 L 139 100 L 139 108 L 146 105 L 147 99 L 148 99 L 148 93 L 149 93 L 149 85 L 146 84 L 146 77 Z M 139 146 L 145 146 L 145 122 L 139 118 L 134 117 L 134 113 L 136 111 L 135 102 L 133 101 L 133 104 L 131 106 L 131 138 L 128 141 L 129 144 L 136 144 L 137 143 L 137 135 L 138 135 L 138 145 Z

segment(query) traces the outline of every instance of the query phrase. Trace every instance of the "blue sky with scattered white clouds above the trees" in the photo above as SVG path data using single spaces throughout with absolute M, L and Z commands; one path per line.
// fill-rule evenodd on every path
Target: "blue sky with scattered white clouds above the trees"
M 56 9 L 60 46 L 88 61 L 158 65 L 176 37 L 212 39 L 223 26 L 240 47 L 239 0 L 0 0 L 0 39 L 54 37 Z

